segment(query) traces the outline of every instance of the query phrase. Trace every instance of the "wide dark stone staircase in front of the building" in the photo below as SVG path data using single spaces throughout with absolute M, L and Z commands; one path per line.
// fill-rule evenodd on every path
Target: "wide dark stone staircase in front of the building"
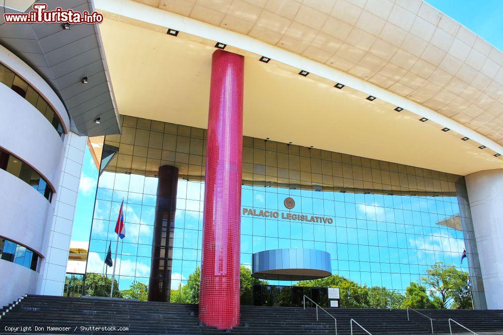
M 5 308 L 3 308 L 4 310 Z M 338 335 L 350 334 L 355 319 L 372 335 L 431 334 L 430 320 L 402 309 L 328 309 L 337 318 Z M 435 333 L 449 333 L 452 318 L 475 332 L 503 334 L 503 311 L 421 310 L 433 318 Z M 415 314 L 415 315 L 414 315 Z M 1 313 L 0 313 L 1 315 Z M 334 334 L 333 318 L 315 308 L 241 306 L 241 323 L 232 330 L 218 330 L 199 323 L 198 306 L 109 298 L 70 298 L 28 295 L 0 318 L 6 326 L 68 327 L 59 331 L 26 331 L 24 334 Z M 108 327 L 99 331 L 92 328 Z M 115 326 L 115 331 L 110 327 Z M 128 327 L 127 330 L 119 329 Z M 47 329 L 47 328 L 45 328 Z M 453 332 L 462 329 L 453 324 Z M 466 332 L 466 331 L 463 331 Z M 358 326 L 353 333 L 365 334 Z

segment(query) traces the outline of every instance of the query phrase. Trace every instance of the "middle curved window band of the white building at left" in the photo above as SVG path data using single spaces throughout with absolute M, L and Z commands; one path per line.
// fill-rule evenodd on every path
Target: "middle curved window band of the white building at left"
M 47 180 L 21 159 L 2 149 L 0 149 L 0 169 L 23 180 L 51 202 L 53 192 Z

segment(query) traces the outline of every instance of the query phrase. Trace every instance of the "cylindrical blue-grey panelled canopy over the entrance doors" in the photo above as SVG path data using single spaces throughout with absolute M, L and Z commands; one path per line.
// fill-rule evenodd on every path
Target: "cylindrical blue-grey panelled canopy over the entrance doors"
M 253 254 L 251 275 L 270 280 L 309 280 L 331 275 L 330 254 L 314 249 L 274 249 Z

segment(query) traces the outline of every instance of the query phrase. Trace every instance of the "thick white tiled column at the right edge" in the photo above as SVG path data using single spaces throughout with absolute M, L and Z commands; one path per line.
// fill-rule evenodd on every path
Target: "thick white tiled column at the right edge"
M 465 177 L 488 309 L 503 309 L 503 169 Z

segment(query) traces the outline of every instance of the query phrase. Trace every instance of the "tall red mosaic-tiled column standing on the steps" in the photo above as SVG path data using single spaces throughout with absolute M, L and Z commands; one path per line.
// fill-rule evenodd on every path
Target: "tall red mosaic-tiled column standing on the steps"
M 239 323 L 239 248 L 244 58 L 213 53 L 199 317 L 220 329 Z

